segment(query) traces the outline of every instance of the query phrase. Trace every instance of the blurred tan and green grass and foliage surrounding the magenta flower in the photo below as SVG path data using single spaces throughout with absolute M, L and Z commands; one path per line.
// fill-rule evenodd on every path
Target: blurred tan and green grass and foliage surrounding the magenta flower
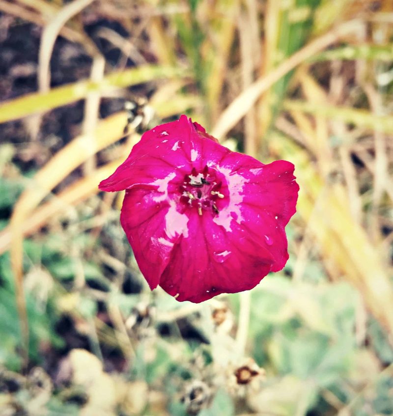
M 391 0 L 0 0 L 0 414 L 393 414 Z M 150 293 L 100 194 L 186 113 L 296 166 L 251 293 Z

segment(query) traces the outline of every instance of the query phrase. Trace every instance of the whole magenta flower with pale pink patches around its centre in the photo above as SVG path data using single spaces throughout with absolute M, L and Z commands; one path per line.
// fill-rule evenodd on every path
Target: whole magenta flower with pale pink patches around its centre
M 146 132 L 99 188 L 126 190 L 120 221 L 150 288 L 199 303 L 284 267 L 293 170 L 231 152 L 182 115 Z

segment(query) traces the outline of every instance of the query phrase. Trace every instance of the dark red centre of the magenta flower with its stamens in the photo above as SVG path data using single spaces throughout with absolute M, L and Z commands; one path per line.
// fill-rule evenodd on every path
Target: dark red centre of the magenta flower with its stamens
M 222 185 L 215 170 L 205 166 L 202 172 L 198 173 L 194 167 L 190 175 L 184 176 L 184 181 L 179 187 L 180 201 L 186 206 L 196 208 L 199 215 L 205 210 L 217 215 L 219 201 L 225 198 Z

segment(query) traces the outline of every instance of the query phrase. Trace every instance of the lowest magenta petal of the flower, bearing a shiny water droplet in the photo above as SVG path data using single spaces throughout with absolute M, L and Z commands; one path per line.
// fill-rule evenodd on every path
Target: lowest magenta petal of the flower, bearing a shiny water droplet
M 208 216 L 194 213 L 188 236 L 173 247 L 160 286 L 178 301 L 199 303 L 220 293 L 252 289 L 273 261 L 246 229 L 238 226 L 227 233 Z

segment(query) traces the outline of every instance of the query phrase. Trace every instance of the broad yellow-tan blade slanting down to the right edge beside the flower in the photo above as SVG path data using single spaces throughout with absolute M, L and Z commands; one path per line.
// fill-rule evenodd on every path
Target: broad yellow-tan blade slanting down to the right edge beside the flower
M 324 259 L 334 261 L 343 278 L 362 293 L 370 312 L 393 334 L 393 290 L 376 248 L 362 226 L 354 221 L 348 194 L 342 185 L 324 183 L 301 148 L 275 137 L 282 158 L 291 160 L 300 184 L 298 213 L 309 222 L 309 230 Z M 316 214 L 313 211 L 316 210 Z

